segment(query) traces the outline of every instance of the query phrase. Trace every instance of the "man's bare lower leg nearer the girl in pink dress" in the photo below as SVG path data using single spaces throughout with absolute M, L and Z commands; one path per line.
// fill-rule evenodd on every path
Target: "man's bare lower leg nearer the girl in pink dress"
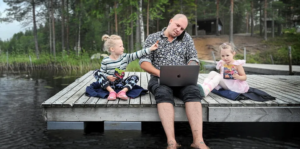
M 200 102 L 186 102 L 186 116 L 189 120 L 193 133 L 193 144 L 191 147 L 208 149 L 202 136 L 202 105 Z

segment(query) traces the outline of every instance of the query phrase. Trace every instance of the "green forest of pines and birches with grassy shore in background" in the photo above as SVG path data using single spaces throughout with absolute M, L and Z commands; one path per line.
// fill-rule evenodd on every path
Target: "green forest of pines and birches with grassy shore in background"
M 0 67 L 95 69 L 104 34 L 120 35 L 126 53 L 140 50 L 149 34 L 161 31 L 177 13 L 188 17 L 187 32 L 200 36 L 197 20 L 223 24 L 218 35 L 249 33 L 276 50 L 274 60 L 286 64 L 287 44 L 293 64 L 300 65 L 298 0 L 3 0 L 0 22 L 18 21 L 25 31 L 0 39 Z M 1 26 L 0 26 L 1 27 Z M 271 51 L 272 52 L 272 51 Z M 30 56 L 30 58 L 29 58 Z M 261 55 L 263 57 L 264 55 Z M 30 62 L 30 59 L 32 62 Z M 10 68 L 9 68 L 10 69 Z M 141 71 L 137 62 L 128 69 Z

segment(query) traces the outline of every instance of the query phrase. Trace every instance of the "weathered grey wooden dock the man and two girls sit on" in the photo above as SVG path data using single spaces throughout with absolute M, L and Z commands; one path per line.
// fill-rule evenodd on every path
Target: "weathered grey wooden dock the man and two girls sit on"
M 126 77 L 137 74 L 137 85 L 147 89 L 150 75 L 146 72 L 126 72 Z M 202 83 L 208 74 L 199 74 Z M 250 87 L 261 89 L 276 100 L 258 102 L 233 101 L 214 93 L 202 100 L 204 122 L 300 122 L 300 76 L 247 75 Z M 95 82 L 92 71 L 73 82 L 41 104 L 45 121 L 160 121 L 154 96 L 146 93 L 130 100 L 110 100 L 84 95 Z M 175 101 L 175 121 L 188 121 L 185 105 Z

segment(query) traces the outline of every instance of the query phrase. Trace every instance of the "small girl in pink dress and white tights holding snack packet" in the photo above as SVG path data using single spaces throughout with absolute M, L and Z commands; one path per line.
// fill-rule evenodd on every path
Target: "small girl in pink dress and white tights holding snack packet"
M 219 46 L 221 59 L 216 66 L 220 69 L 220 74 L 211 71 L 207 78 L 204 78 L 202 84 L 197 84 L 200 89 L 201 96 L 206 97 L 212 89 L 231 90 L 237 93 L 248 92 L 249 85 L 246 82 L 246 73 L 242 67 L 245 60 L 234 60 L 234 45 L 231 42 L 223 43 Z

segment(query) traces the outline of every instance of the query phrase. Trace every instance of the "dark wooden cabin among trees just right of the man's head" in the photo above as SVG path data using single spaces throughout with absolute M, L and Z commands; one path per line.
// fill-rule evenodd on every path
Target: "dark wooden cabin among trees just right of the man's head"
M 216 18 L 197 20 L 198 35 L 215 35 L 216 34 Z M 222 31 L 223 23 L 219 18 L 219 34 Z M 193 35 L 195 33 L 195 24 L 193 25 Z

